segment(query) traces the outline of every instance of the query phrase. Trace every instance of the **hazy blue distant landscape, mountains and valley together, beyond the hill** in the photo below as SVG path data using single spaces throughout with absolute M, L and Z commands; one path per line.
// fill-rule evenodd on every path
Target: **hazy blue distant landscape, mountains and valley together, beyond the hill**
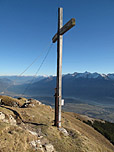
M 33 97 L 54 107 L 55 76 L 2 76 L 0 91 Z M 114 74 L 97 72 L 63 75 L 63 110 L 114 122 Z

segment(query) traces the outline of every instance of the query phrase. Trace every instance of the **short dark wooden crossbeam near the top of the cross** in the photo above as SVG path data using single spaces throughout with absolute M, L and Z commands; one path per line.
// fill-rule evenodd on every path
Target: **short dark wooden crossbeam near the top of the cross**
M 60 35 L 63 35 L 65 32 L 70 30 L 73 26 L 75 26 L 75 18 L 72 18 L 70 21 L 68 21 L 61 29 L 60 29 Z M 58 38 L 58 33 L 54 35 L 52 38 L 52 42 L 55 43 Z

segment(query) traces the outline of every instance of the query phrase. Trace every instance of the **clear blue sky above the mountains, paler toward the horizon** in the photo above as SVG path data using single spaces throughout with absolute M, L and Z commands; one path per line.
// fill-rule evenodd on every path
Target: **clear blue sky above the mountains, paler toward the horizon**
M 114 0 L 0 0 L 0 75 L 34 75 L 57 31 L 57 8 L 64 24 L 63 73 L 114 73 Z M 56 43 L 38 75 L 56 75 Z

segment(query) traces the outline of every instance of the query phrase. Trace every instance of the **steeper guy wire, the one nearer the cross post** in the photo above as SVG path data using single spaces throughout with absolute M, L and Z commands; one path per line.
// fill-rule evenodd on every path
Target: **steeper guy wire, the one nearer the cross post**
M 22 96 L 25 95 L 25 93 L 27 92 L 27 90 L 30 88 L 30 85 L 33 83 L 33 81 L 34 81 L 35 77 L 37 76 L 38 72 L 40 71 L 40 69 L 41 69 L 41 67 L 42 67 L 42 65 L 43 65 L 43 63 L 44 63 L 44 61 L 46 60 L 46 58 L 47 58 L 47 56 L 48 56 L 48 54 L 49 54 L 49 52 L 50 52 L 50 50 L 51 50 L 51 48 L 52 48 L 52 45 L 53 45 L 53 43 L 51 43 L 51 45 L 50 45 L 50 47 L 49 47 L 49 49 L 48 49 L 48 51 L 47 51 L 47 53 L 46 53 L 46 55 L 45 55 L 43 61 L 41 62 L 40 66 L 38 67 L 38 69 L 37 69 L 37 71 L 36 71 L 36 73 L 35 73 L 33 79 L 31 80 L 31 82 L 30 82 L 30 83 L 27 85 L 27 87 L 25 88 L 25 90 L 24 90 Z

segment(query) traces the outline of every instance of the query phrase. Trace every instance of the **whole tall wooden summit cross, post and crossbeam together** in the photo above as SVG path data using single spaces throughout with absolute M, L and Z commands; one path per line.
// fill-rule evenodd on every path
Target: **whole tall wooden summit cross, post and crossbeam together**
M 58 8 L 58 32 L 52 38 L 57 41 L 57 83 L 55 89 L 55 126 L 61 127 L 61 101 L 62 101 L 62 45 L 63 34 L 75 26 L 75 19 L 72 18 L 63 26 L 63 8 Z

